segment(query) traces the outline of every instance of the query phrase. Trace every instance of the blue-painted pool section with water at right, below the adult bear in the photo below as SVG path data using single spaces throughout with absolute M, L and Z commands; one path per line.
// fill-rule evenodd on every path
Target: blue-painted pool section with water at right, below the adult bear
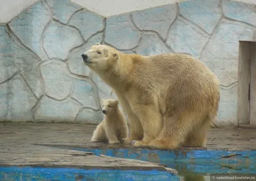
M 134 148 L 76 148 L 112 157 L 139 159 L 166 164 L 179 172 L 189 171 L 198 174 L 209 173 L 256 173 L 256 151 L 228 150 L 147 150 Z

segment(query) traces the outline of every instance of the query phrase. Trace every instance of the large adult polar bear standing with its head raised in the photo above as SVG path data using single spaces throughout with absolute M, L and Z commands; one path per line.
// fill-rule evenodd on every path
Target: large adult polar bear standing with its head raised
M 84 64 L 112 87 L 130 123 L 124 143 L 164 149 L 204 147 L 220 102 L 220 82 L 185 54 L 124 54 L 97 43 Z

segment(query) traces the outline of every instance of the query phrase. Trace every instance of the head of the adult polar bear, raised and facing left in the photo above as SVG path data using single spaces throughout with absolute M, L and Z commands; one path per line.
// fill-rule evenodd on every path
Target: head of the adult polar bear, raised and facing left
M 82 54 L 83 62 L 96 72 L 105 72 L 113 68 L 118 60 L 118 51 L 107 45 L 96 43 Z

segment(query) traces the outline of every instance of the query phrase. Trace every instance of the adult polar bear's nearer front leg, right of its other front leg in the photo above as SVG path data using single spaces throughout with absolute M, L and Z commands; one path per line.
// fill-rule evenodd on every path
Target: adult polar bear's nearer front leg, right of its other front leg
M 142 140 L 132 140 L 131 144 L 137 147 L 147 146 L 161 132 L 163 117 L 153 105 L 143 105 L 136 109 L 135 113 L 140 118 L 144 135 Z

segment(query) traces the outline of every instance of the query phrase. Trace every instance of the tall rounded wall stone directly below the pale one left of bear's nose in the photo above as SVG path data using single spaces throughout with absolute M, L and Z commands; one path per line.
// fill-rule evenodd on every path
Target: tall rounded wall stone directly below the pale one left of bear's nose
M 45 93 L 51 98 L 65 99 L 70 94 L 72 78 L 68 76 L 64 62 L 49 62 L 41 66 L 45 82 Z

